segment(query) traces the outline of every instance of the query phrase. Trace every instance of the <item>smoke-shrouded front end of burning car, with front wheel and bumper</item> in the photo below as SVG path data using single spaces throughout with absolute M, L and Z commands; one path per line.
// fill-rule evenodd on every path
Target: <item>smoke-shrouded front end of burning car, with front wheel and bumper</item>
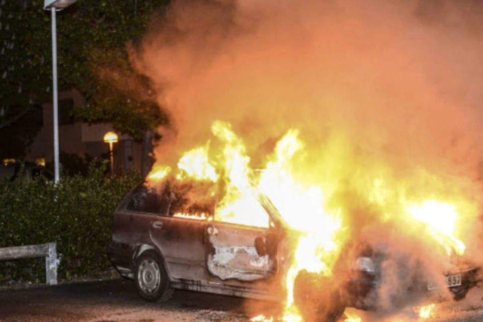
M 404 259 L 409 260 L 411 257 L 414 255 L 403 254 Z M 387 282 L 385 279 L 390 275 L 385 271 L 388 269 L 385 265 L 387 261 L 393 259 L 388 258 L 381 248 L 377 250 L 366 243 L 350 243 L 338 259 L 334 276 L 299 272 L 293 292 L 295 304 L 304 320 L 336 321 L 343 307 L 366 311 L 384 310 L 380 301 L 387 299 L 390 300 L 392 310 L 446 300 L 449 294 L 454 300 L 461 300 L 481 280 L 479 267 L 455 257 L 454 262 L 450 263 L 451 270 L 437 276 L 439 282 L 435 282 L 428 274 L 429 270 L 419 261 L 408 266 L 395 261 L 402 266 L 400 272 L 407 276 L 402 277 L 400 283 Z M 381 291 L 384 283 L 395 288 L 391 294 L 383 294 Z M 321 292 L 320 289 L 326 291 Z

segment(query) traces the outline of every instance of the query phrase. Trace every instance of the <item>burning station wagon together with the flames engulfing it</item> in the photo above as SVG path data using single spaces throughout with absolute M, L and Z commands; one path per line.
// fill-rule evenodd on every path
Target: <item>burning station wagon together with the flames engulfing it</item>
M 460 212 L 477 213 L 466 198 L 409 199 L 379 177 L 364 198 L 324 193 L 295 178 L 297 130 L 256 169 L 228 122 L 211 132 L 216 142 L 187 150 L 176 168 L 155 164 L 114 213 L 109 257 L 142 298 L 186 289 L 272 299 L 284 320 L 336 321 L 345 307 L 460 299 L 479 280 L 458 238 Z

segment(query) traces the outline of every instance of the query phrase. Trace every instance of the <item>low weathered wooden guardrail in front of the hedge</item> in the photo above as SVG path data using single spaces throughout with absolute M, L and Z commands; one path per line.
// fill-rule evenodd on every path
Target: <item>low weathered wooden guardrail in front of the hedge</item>
M 57 285 L 57 245 L 47 243 L 0 248 L 0 261 L 10 261 L 20 258 L 45 257 L 45 282 L 47 285 Z

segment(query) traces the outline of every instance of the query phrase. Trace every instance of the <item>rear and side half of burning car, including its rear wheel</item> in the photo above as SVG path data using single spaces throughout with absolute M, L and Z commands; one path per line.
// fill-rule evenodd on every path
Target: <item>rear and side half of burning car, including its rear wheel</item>
M 166 300 L 173 289 L 260 299 L 283 294 L 288 240 L 270 204 L 269 224 L 254 227 L 215 221 L 206 208 L 177 213 L 180 202 L 174 192 L 158 194 L 141 184 L 114 214 L 109 257 L 135 280 L 142 298 Z

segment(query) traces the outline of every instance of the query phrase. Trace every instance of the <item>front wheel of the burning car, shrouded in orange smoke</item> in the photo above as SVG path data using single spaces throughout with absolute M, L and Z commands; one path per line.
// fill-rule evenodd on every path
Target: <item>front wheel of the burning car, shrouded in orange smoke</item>
M 293 283 L 293 299 L 305 322 L 336 322 L 345 306 L 327 276 L 300 271 Z

